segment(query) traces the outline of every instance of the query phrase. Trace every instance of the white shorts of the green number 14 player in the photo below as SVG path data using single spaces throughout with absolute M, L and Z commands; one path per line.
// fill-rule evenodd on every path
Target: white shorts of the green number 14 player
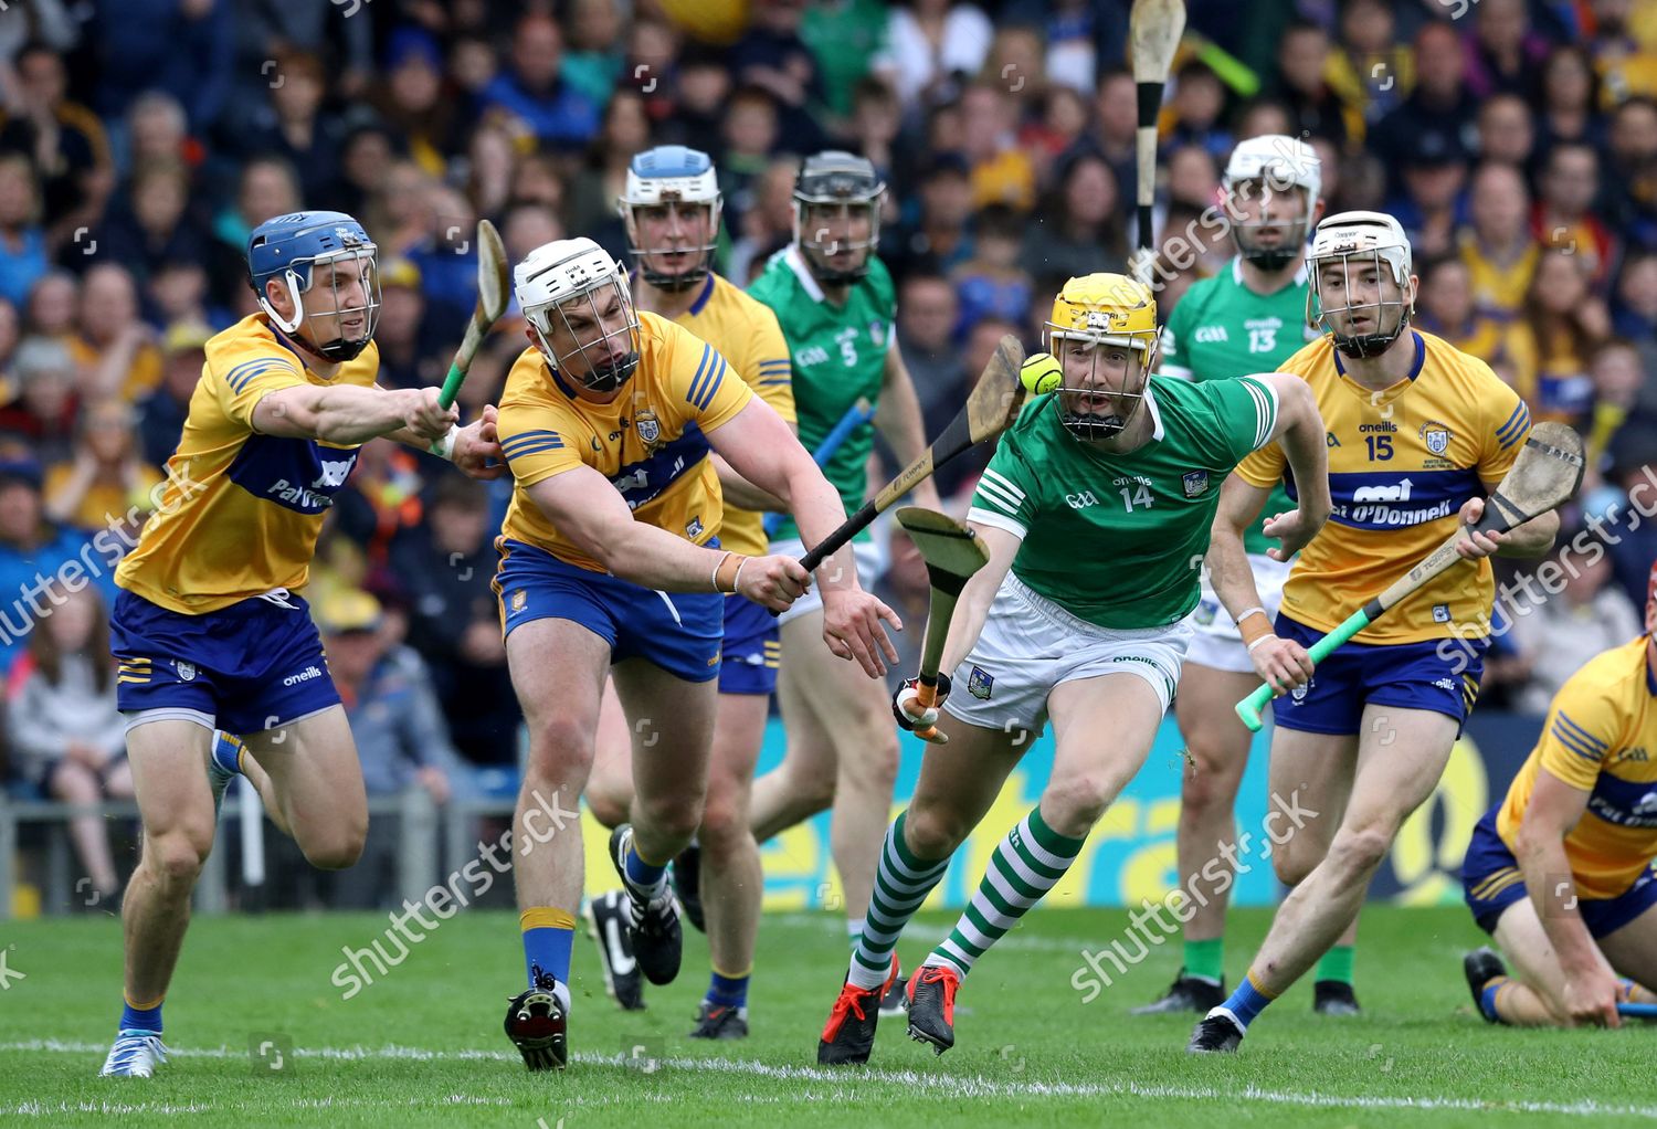
M 1027 729 L 1034 738 L 1047 728 L 1047 695 L 1059 683 L 1138 675 L 1167 713 L 1190 638 L 1185 620 L 1138 630 L 1097 627 L 1009 572 L 973 653 L 949 675 L 944 710 L 969 724 Z

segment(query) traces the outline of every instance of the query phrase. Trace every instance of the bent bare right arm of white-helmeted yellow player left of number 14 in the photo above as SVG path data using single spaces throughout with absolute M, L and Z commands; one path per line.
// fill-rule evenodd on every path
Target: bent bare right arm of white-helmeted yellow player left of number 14
M 744 557 L 703 549 L 664 529 L 633 521 L 626 499 L 603 474 L 578 466 L 529 487 L 535 506 L 582 552 L 611 575 L 664 592 L 739 592 L 777 612 L 805 590 L 792 557 Z

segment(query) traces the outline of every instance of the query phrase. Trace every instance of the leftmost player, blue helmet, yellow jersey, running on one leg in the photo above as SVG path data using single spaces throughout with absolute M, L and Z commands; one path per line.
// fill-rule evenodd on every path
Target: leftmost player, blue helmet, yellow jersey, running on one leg
M 144 839 L 123 905 L 126 1010 L 104 1074 L 147 1078 L 166 1059 L 161 998 L 237 771 L 313 865 L 348 867 L 363 849 L 356 746 L 293 592 L 358 448 L 441 441 L 474 477 L 505 471 L 486 466 L 500 454 L 494 408 L 456 428 L 436 388 L 374 386 L 379 279 L 361 224 L 278 216 L 254 229 L 247 265 L 260 313 L 207 342 L 161 507 L 114 574 L 109 640 Z M 247 756 L 215 728 L 240 736 Z

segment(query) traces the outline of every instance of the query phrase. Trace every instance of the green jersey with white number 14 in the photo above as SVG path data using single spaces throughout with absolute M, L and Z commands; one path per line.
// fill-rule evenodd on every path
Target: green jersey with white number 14
M 1278 393 L 1248 376 L 1152 376 L 1152 438 L 1127 454 L 1075 439 L 1054 395 L 1001 436 L 968 521 L 1022 537 L 1012 574 L 1077 618 L 1178 623 L 1196 607 L 1220 484 L 1271 436 Z

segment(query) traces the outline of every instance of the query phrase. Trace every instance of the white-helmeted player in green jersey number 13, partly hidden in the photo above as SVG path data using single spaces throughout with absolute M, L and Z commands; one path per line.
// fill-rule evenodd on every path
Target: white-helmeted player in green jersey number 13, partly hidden
M 1168 376 L 1205 381 L 1278 370 L 1319 337 L 1306 323 L 1306 239 L 1322 217 L 1322 162 L 1297 138 L 1266 134 L 1239 141 L 1221 179 L 1225 217 L 1238 254 L 1213 279 L 1191 283 L 1162 328 L 1162 368 Z M 1278 618 L 1291 562 L 1268 555 L 1278 545 L 1266 517 L 1294 507 L 1279 482 L 1261 517 L 1243 535 L 1263 622 Z M 1180 889 L 1198 894 L 1185 922 L 1185 958 L 1173 985 L 1133 1015 L 1196 1011 L 1226 998 L 1226 905 L 1236 875 L 1221 844 L 1236 837 L 1238 787 L 1253 734 L 1233 703 L 1258 685 L 1243 633 L 1203 575 L 1203 598 L 1191 613 L 1191 648 L 1180 675 L 1175 716 L 1190 764 L 1180 787 Z M 1350 932 L 1355 932 L 1355 925 Z M 1352 937 L 1319 965 L 1319 1011 L 1355 1011 Z

